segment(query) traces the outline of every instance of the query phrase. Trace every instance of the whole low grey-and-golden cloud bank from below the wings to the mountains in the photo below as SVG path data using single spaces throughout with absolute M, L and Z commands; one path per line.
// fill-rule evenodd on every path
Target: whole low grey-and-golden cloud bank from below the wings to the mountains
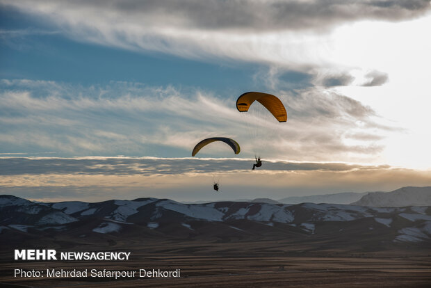
M 280 199 L 289 195 L 391 191 L 429 186 L 428 170 L 379 165 L 163 159 L 156 157 L 0 158 L 0 193 L 34 200 L 101 201 L 140 197 L 174 200 Z M 221 194 L 212 193 L 220 181 Z M 121 195 L 119 197 L 119 195 Z

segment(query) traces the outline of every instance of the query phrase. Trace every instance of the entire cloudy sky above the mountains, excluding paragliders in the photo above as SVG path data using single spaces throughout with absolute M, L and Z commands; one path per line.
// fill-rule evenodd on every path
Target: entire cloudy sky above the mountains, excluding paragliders
M 210 201 L 431 186 L 430 26 L 429 0 L 0 0 L 0 193 Z M 259 104 L 239 113 L 248 91 L 279 97 L 288 121 Z M 191 157 L 214 136 L 241 153 L 212 143 Z

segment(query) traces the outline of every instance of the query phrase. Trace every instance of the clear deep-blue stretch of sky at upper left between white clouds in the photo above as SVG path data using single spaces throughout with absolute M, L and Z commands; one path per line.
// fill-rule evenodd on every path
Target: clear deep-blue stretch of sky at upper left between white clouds
M 252 75 L 262 69 L 254 63 L 193 61 L 157 51 L 129 51 L 79 42 L 65 37 L 40 17 L 8 7 L 1 10 L 1 25 L 3 79 L 84 86 L 129 81 L 149 86 L 202 87 L 218 93 L 227 93 L 227 87 L 238 91 L 250 86 L 262 88 L 252 81 Z

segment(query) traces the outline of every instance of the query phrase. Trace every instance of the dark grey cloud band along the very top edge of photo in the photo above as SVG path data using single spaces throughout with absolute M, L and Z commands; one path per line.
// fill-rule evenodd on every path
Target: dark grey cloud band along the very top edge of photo
M 206 30 L 273 31 L 274 29 L 322 29 L 342 22 L 361 19 L 400 21 L 423 15 L 430 9 L 428 0 L 393 1 L 1 1 L 31 13 L 49 15 L 57 21 L 74 24 L 70 19 L 110 17 L 117 22 L 138 22 L 145 26 L 202 27 Z M 29 5 L 32 3 L 33 5 Z M 79 13 L 84 15 L 79 17 Z M 125 17 L 129 20 L 124 20 Z M 76 23 L 79 25 L 79 23 Z

